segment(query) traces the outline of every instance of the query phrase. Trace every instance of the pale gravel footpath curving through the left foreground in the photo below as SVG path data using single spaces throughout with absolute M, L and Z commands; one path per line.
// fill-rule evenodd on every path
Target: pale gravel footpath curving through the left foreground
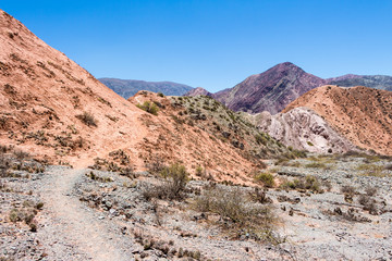
M 49 170 L 40 191 L 45 226 L 38 237 L 50 260 L 130 260 L 120 233 L 85 207 L 73 188 L 86 170 Z M 119 239 L 120 237 L 120 239 Z

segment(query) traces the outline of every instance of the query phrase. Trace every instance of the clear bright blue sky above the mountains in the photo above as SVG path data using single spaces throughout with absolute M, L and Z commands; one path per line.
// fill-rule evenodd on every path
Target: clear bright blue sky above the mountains
M 96 77 L 217 91 L 286 61 L 320 77 L 392 75 L 390 0 L 1 0 L 0 9 Z

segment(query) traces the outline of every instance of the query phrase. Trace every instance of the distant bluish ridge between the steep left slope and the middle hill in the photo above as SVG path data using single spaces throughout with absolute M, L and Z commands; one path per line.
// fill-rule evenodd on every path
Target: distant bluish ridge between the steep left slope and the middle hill
M 139 90 L 162 92 L 168 96 L 182 96 L 193 89 L 191 86 L 172 82 L 145 82 L 119 78 L 99 78 L 99 80 L 125 99 L 136 95 Z

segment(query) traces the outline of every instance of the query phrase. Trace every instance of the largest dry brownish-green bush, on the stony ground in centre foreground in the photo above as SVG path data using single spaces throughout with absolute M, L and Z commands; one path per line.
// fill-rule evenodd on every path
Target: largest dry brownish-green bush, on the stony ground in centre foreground
M 217 223 L 234 238 L 268 240 L 277 221 L 268 206 L 249 202 L 240 187 L 208 187 L 196 198 L 194 208 L 220 215 Z

